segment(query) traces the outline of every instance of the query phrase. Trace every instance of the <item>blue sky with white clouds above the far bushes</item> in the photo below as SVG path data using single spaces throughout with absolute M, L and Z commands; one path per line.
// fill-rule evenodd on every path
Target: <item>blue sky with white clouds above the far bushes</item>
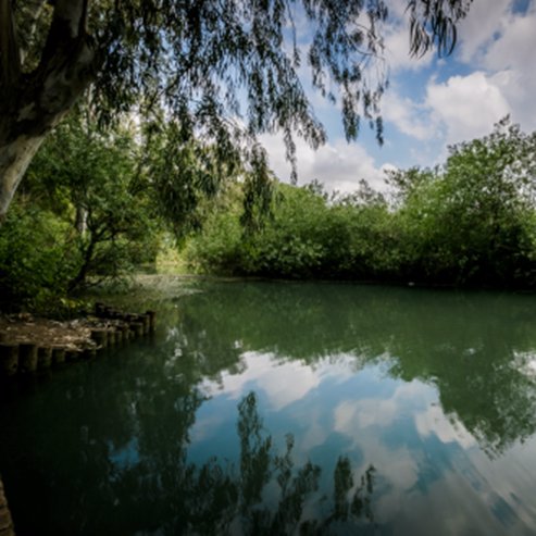
M 364 126 L 358 141 L 348 144 L 337 107 L 311 92 L 328 141 L 313 151 L 297 140 L 300 185 L 319 179 L 329 191 L 349 192 L 364 178 L 384 190 L 386 169 L 440 164 L 449 145 L 489 134 L 508 114 L 523 130 L 536 130 L 536 0 L 474 0 L 459 25 L 454 52 L 421 59 L 409 55 L 407 1 L 387 3 L 385 142 L 379 147 Z M 275 174 L 288 182 L 281 136 L 263 136 L 262 141 Z

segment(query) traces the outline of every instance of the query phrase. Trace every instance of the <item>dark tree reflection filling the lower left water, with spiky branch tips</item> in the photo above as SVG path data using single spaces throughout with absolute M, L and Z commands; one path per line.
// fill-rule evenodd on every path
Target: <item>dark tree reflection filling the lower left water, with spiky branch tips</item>
M 332 484 L 321 483 L 319 465 L 296 462 L 291 434 L 277 448 L 254 392 L 238 403 L 236 461 L 192 461 L 189 433 L 205 397 L 191 378 L 165 383 L 144 357 L 139 370 L 99 364 L 0 407 L 0 471 L 18 536 L 43 527 L 77 536 L 374 532 L 374 468 L 356 476 L 334 451 Z

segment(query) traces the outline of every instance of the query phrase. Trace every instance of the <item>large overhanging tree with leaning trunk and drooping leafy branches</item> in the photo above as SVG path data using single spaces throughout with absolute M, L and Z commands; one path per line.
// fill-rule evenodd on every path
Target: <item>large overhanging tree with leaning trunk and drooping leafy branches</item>
M 470 3 L 409 0 L 411 52 L 449 53 Z M 306 54 L 298 10 L 311 23 Z M 306 55 L 324 96 L 336 97 L 328 78 L 339 88 L 348 139 L 363 116 L 381 140 L 386 77 L 371 67 L 386 17 L 384 0 L 0 0 L 0 221 L 45 137 L 89 87 L 104 120 L 135 102 L 165 104 L 191 136 L 238 148 L 283 130 L 294 162 L 294 133 L 313 147 L 325 139 L 298 77 Z M 245 128 L 232 121 L 240 116 Z

